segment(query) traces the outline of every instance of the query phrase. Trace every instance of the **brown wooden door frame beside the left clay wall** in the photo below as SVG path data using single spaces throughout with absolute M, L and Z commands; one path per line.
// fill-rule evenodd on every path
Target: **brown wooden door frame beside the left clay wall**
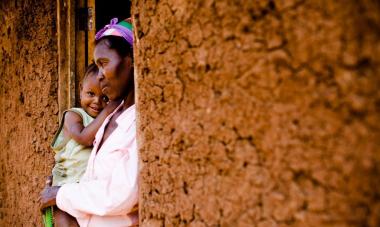
M 88 10 L 84 30 L 78 26 L 79 9 Z M 58 115 L 61 118 L 65 110 L 78 104 L 79 84 L 92 61 L 95 0 L 57 0 L 57 36 Z

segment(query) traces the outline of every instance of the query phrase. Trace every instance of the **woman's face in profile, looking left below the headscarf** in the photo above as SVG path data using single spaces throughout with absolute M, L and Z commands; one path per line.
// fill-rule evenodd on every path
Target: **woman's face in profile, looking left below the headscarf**
M 133 83 L 131 57 L 121 57 L 104 40 L 95 46 L 94 60 L 99 67 L 97 79 L 102 92 L 110 100 L 125 98 L 129 92 L 128 83 Z

